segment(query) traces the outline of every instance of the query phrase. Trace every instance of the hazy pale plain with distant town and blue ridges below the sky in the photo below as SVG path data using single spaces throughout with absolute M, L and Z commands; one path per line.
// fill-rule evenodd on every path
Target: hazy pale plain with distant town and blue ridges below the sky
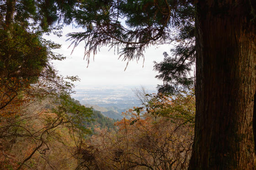
M 93 107 L 101 111 L 104 116 L 114 119 L 122 119 L 122 112 L 134 106 L 140 106 L 141 102 L 133 92 L 140 86 L 122 86 L 122 87 L 85 87 L 75 89 L 73 98 L 80 101 L 87 107 Z M 148 93 L 156 93 L 153 86 L 145 87 Z

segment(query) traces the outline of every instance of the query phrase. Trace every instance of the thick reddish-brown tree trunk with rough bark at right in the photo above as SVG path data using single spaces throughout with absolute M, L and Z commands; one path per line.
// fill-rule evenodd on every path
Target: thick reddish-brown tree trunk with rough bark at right
M 250 0 L 196 5 L 196 124 L 189 170 L 255 170 L 256 24 Z

